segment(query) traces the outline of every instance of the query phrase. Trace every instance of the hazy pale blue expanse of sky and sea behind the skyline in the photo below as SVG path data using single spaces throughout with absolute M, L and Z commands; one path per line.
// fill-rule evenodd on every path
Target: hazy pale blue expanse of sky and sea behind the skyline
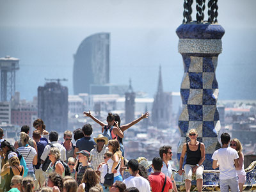
M 68 78 L 63 85 L 72 94 L 79 44 L 93 33 L 110 32 L 111 83 L 127 84 L 131 77 L 135 91 L 152 96 L 162 65 L 164 91 L 179 91 L 183 66 L 175 29 L 182 23 L 183 2 L 0 0 L 0 57 L 20 58 L 16 87 L 23 99 L 37 95 L 45 77 Z M 218 21 L 226 30 L 216 72 L 220 98 L 256 99 L 256 1 L 218 5 Z M 195 20 L 195 8 L 192 16 Z

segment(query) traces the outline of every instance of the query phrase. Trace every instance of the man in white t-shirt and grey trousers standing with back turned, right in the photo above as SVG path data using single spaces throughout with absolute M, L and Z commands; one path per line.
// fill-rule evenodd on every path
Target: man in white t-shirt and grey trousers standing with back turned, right
M 236 169 L 239 169 L 239 156 L 234 148 L 228 147 L 230 135 L 227 132 L 221 134 L 222 147 L 212 155 L 212 168 L 220 168 L 220 191 L 238 192 L 238 179 Z

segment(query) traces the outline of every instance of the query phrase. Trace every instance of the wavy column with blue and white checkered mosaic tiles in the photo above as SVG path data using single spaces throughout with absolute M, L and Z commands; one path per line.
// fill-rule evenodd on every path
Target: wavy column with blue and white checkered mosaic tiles
M 189 130 L 196 129 L 198 141 L 205 144 L 205 170 L 212 170 L 211 157 L 219 147 L 218 132 L 221 128 L 216 108 L 219 89 L 215 71 L 225 30 L 211 22 L 189 22 L 181 24 L 176 33 L 184 64 L 180 88 L 182 112 L 179 117 L 181 138 L 178 158 L 183 144 L 189 140 Z

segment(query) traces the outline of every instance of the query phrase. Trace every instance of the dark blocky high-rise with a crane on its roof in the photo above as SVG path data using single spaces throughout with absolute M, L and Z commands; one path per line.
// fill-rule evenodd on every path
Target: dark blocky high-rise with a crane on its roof
M 58 83 L 38 87 L 38 117 L 47 131 L 66 131 L 68 125 L 68 88 Z

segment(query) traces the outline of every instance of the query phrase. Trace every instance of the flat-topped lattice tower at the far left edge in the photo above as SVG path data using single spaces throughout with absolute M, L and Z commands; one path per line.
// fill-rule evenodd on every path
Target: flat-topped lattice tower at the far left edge
M 15 94 L 15 73 L 19 69 L 19 59 L 6 56 L 0 58 L 1 101 L 10 101 Z

